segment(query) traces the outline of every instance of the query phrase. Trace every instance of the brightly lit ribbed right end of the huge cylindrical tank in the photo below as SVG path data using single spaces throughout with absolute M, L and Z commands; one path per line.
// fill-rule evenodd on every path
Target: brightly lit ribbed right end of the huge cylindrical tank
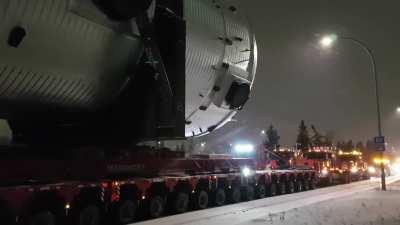
M 254 81 L 254 33 L 243 11 L 230 2 L 184 1 L 186 136 L 205 134 L 229 121 L 243 107 Z M 228 94 L 241 100 L 232 102 Z

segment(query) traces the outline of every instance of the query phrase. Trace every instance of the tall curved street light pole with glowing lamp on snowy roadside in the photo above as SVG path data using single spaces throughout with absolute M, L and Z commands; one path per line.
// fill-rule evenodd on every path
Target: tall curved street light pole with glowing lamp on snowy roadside
M 372 49 L 370 49 L 364 42 L 353 38 L 353 37 L 345 37 L 345 36 L 335 36 L 337 39 L 342 39 L 342 40 L 348 40 L 351 41 L 355 44 L 357 44 L 359 47 L 361 47 L 369 56 L 372 64 L 372 73 L 374 76 L 374 81 L 375 81 L 375 98 L 376 98 L 376 112 L 377 112 L 377 119 L 378 119 L 378 135 L 379 137 L 382 137 L 382 124 L 381 124 L 381 103 L 380 103 L 380 96 L 379 96 L 379 80 L 378 80 L 378 72 L 376 70 L 376 61 L 375 57 L 373 54 Z M 321 44 L 324 46 L 330 46 L 334 42 L 334 39 L 332 37 L 325 37 L 322 39 Z M 383 162 L 383 151 L 380 152 L 380 157 L 381 157 L 381 185 L 382 185 L 382 190 L 386 191 L 386 178 L 385 178 L 385 165 Z

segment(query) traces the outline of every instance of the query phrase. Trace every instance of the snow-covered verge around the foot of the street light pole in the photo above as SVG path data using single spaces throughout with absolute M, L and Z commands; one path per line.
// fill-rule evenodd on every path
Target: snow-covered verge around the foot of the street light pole
M 266 212 L 240 224 L 399 225 L 400 182 L 390 185 L 386 192 L 375 189 L 286 212 Z

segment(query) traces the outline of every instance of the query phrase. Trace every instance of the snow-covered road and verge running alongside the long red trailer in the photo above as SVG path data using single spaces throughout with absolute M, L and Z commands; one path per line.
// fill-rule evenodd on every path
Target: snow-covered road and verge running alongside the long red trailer
M 393 176 L 387 178 L 387 183 L 391 184 L 399 180 L 400 176 Z M 375 191 L 375 189 L 378 189 L 380 186 L 379 181 L 380 181 L 379 179 L 374 178 L 371 180 L 355 182 L 346 185 L 337 185 L 313 191 L 282 195 L 273 198 L 265 198 L 250 202 L 227 205 L 223 207 L 210 208 L 206 210 L 193 211 L 185 214 L 168 216 L 155 220 L 148 220 L 136 223 L 135 225 L 161 225 L 161 224 L 162 225 L 354 224 L 355 225 L 358 223 L 347 223 L 346 218 L 343 219 L 341 217 L 346 215 L 346 212 L 348 212 L 348 215 L 354 214 L 356 215 L 356 217 L 360 216 L 362 213 L 365 213 L 366 215 L 370 216 L 375 216 L 372 213 L 364 212 L 366 211 L 367 208 L 365 208 L 363 204 L 367 205 L 367 203 L 365 202 L 362 202 L 362 204 L 359 203 L 356 199 L 354 199 L 357 196 L 359 197 L 360 195 L 361 196 L 385 195 L 387 197 L 389 195 L 390 198 L 397 199 L 395 201 L 390 202 L 392 206 L 390 206 L 389 208 L 396 208 L 400 210 L 400 192 L 389 191 L 388 193 L 382 193 L 380 191 Z M 391 188 L 390 185 L 389 188 Z M 375 195 L 371 193 L 375 193 Z M 379 202 L 378 199 L 373 200 L 372 203 L 378 203 Z M 355 209 L 357 207 L 353 204 L 357 204 L 357 207 L 358 206 L 364 207 L 364 211 L 363 208 L 359 210 L 357 209 L 358 210 L 357 211 Z M 379 205 L 376 205 L 375 207 L 382 208 Z M 384 208 L 386 210 L 386 207 Z M 343 209 L 346 210 L 343 211 Z M 372 209 L 369 208 L 368 210 Z M 342 212 L 342 213 L 338 214 L 337 212 Z M 326 215 L 330 217 L 325 216 L 323 218 L 322 217 L 319 218 L 320 215 Z M 329 222 L 328 218 L 332 218 L 332 221 Z M 383 221 L 385 221 L 384 219 L 385 218 L 383 218 Z M 379 224 L 382 224 L 382 218 L 377 218 L 376 220 L 380 222 Z M 375 220 L 370 219 L 367 220 L 366 223 L 360 223 L 360 224 L 372 225 L 374 224 L 373 221 Z M 355 222 L 357 222 L 357 220 Z M 395 224 L 400 224 L 400 223 L 395 223 Z

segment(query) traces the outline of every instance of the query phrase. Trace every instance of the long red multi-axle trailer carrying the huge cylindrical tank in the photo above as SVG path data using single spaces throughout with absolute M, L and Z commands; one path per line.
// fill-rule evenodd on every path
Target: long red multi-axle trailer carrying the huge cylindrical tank
M 314 170 L 268 169 L 251 158 L 185 157 L 169 150 L 107 160 L 9 158 L 0 163 L 5 225 L 127 224 L 314 189 L 318 183 Z

